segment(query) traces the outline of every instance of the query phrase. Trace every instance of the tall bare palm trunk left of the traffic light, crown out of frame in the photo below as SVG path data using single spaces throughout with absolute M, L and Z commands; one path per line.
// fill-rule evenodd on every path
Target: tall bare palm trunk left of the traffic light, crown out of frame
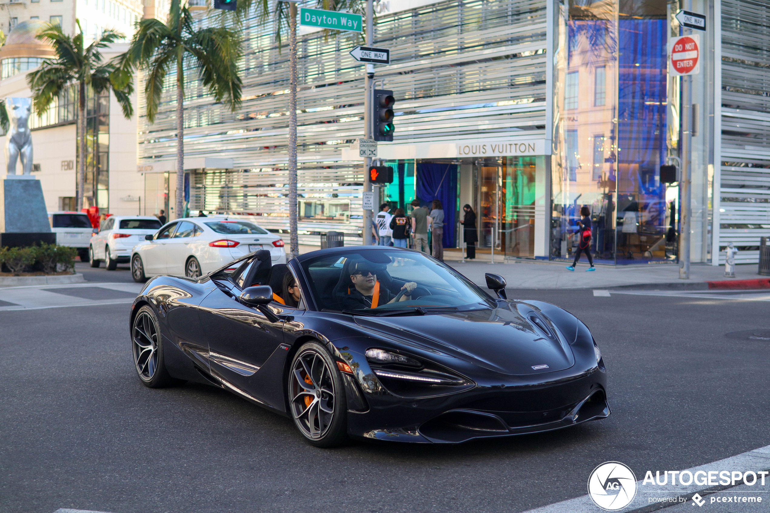
M 289 240 L 290 258 L 300 255 L 296 233 L 296 3 L 289 6 Z

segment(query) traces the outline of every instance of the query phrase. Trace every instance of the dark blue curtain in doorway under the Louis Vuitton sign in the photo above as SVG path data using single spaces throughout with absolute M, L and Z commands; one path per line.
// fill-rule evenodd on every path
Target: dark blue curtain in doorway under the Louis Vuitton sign
M 457 164 L 417 162 L 417 198 L 430 208 L 434 199 L 444 206 L 444 248 L 454 248 L 457 231 Z

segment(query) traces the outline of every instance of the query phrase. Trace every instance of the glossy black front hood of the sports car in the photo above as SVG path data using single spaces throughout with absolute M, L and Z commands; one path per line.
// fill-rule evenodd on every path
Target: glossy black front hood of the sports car
M 362 328 L 409 338 L 504 374 L 541 374 L 574 365 L 567 338 L 526 303 L 511 303 L 510 309 L 355 319 Z

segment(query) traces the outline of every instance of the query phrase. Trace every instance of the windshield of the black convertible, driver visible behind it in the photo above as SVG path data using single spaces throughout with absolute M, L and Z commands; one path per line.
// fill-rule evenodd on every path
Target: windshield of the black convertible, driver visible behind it
M 357 250 L 302 262 L 320 310 L 387 314 L 492 308 L 490 298 L 454 269 L 400 250 Z

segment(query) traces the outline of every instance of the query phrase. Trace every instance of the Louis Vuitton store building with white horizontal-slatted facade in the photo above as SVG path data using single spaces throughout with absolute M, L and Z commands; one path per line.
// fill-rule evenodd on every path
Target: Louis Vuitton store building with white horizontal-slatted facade
M 681 150 L 681 78 L 668 42 L 684 5 L 664 0 L 380 0 L 378 87 L 395 92 L 396 132 L 379 155 L 395 172 L 383 201 L 440 198 L 444 245 L 460 207 L 478 214 L 480 248 L 511 258 L 569 259 L 581 206 L 593 251 L 611 264 L 675 261 L 678 182 L 659 168 Z M 718 264 L 728 242 L 756 261 L 770 235 L 767 101 L 770 5 L 688 0 L 706 16 L 693 75 L 692 261 Z M 202 23 L 213 20 L 205 11 Z M 229 112 L 186 77 L 186 181 L 192 211 L 255 215 L 288 228 L 288 52 L 275 27 L 244 30 L 243 105 Z M 687 31 L 689 32 L 689 31 Z M 698 32 L 698 31 L 692 31 Z M 685 32 L 686 33 L 686 32 Z M 286 38 L 284 38 L 286 41 Z M 363 65 L 356 33 L 303 27 L 298 59 L 300 243 L 346 233 L 360 242 Z M 171 77 L 169 77 L 171 78 Z M 170 81 L 169 81 L 170 82 Z M 173 205 L 173 91 L 154 125 L 140 120 L 146 212 Z M 169 178 L 169 173 L 171 173 Z M 170 201 L 169 201 L 170 199 Z

